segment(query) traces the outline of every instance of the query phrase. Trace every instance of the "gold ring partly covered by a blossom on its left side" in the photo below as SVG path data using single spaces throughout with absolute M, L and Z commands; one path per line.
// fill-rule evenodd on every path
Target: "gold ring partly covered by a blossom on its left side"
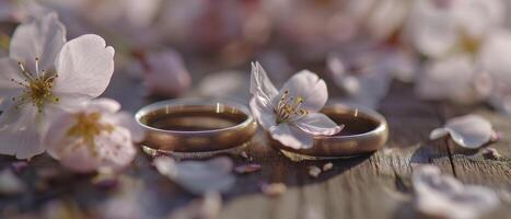
M 335 136 L 316 136 L 310 149 L 293 149 L 270 138 L 271 146 L 283 152 L 313 158 L 356 157 L 376 151 L 388 138 L 385 118 L 373 110 L 349 104 L 328 104 L 322 113 L 345 128 Z

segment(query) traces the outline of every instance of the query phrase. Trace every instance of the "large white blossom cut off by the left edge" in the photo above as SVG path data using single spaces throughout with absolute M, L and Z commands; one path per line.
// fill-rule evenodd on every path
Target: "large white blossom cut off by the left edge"
M 42 138 L 56 111 L 102 94 L 113 57 L 97 35 L 66 43 L 55 13 L 21 24 L 9 58 L 0 59 L 0 153 L 26 159 L 44 152 Z

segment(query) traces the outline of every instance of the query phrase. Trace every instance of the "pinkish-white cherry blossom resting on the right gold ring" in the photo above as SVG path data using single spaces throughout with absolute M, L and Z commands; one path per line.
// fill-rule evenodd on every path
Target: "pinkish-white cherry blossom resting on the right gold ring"
M 330 136 L 342 126 L 317 113 L 325 105 L 326 83 L 315 73 L 302 70 L 291 77 L 280 91 L 269 81 L 263 67 L 252 64 L 251 108 L 257 122 L 282 145 L 311 148 L 315 135 Z

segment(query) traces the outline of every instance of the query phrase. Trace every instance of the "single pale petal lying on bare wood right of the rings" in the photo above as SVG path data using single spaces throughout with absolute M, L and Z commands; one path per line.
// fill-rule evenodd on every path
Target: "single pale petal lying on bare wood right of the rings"
M 458 146 L 476 149 L 488 143 L 496 134 L 487 119 L 469 114 L 449 119 L 444 127 L 432 130 L 429 138 L 439 139 L 448 135 Z

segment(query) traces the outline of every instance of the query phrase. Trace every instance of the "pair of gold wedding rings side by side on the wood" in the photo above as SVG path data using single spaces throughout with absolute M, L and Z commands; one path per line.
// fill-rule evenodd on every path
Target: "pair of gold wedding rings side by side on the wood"
M 322 113 L 345 128 L 335 136 L 316 136 L 311 149 L 292 149 L 269 138 L 287 153 L 315 158 L 355 157 L 381 148 L 388 137 L 379 113 L 348 104 L 327 104 Z M 144 147 L 172 153 L 209 153 L 249 142 L 257 131 L 251 111 L 227 100 L 184 99 L 142 107 L 137 122 L 146 129 Z

